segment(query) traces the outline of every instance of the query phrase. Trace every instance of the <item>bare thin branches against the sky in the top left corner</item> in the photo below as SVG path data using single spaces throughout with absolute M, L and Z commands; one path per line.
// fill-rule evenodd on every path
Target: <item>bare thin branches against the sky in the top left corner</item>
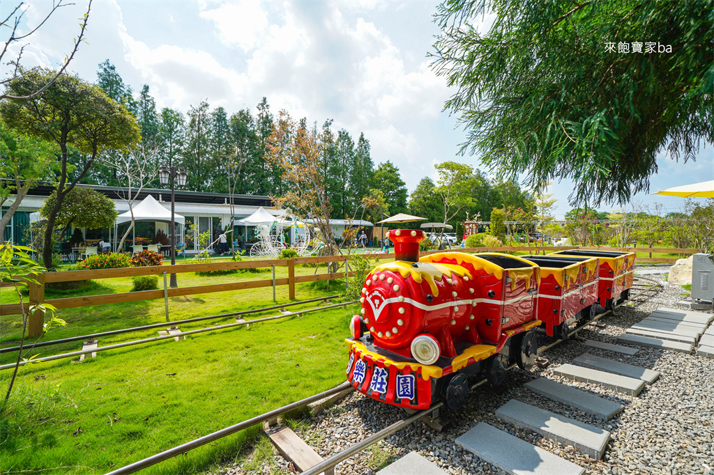
M 69 55 L 64 58 L 64 62 L 62 63 L 62 66 L 57 70 L 55 76 L 53 78 L 50 78 L 50 80 L 47 81 L 44 86 L 37 88 L 36 91 L 32 91 L 31 93 L 24 94 L 22 96 L 13 96 L 6 92 L 0 93 L 0 100 L 8 98 L 23 101 L 26 99 L 34 98 L 41 94 L 46 88 L 49 88 L 49 86 L 51 86 L 52 83 L 54 83 L 54 81 L 56 81 L 57 78 L 59 78 L 59 76 L 64 73 L 64 70 L 67 68 L 67 66 L 69 66 L 69 63 L 72 61 L 72 59 L 74 59 L 75 53 L 77 52 L 77 50 L 79 50 L 79 44 L 84 41 L 84 34 L 86 33 L 87 22 L 89 21 L 89 11 L 91 10 L 91 2 L 92 0 L 89 0 L 89 3 L 87 4 L 87 11 L 81 19 L 82 21 L 79 26 L 79 35 L 76 37 L 76 39 L 74 39 L 74 48 L 72 48 L 72 51 L 69 53 Z M 38 31 L 41 26 L 43 26 L 57 10 L 61 9 L 63 6 L 70 5 L 73 4 L 67 4 L 64 2 L 64 0 L 53 1 L 51 9 L 39 22 L 39 24 L 34 27 L 31 27 L 30 31 L 24 34 L 19 33 L 19 27 L 21 25 L 22 18 L 25 15 L 27 7 L 25 6 L 24 2 L 20 2 L 14 7 L 14 9 L 11 9 L 10 13 L 2 20 L 2 23 L 0 24 L 0 26 L 9 28 L 10 31 L 9 37 L 4 41 L 2 51 L 0 52 L 0 64 L 4 63 L 3 61 L 5 60 L 5 53 L 9 52 L 9 48 L 12 44 L 28 39 L 29 36 L 36 33 L 36 31 Z M 24 69 L 21 67 L 22 54 L 24 53 L 26 46 L 26 44 L 21 46 L 19 53 L 17 53 L 17 57 L 14 58 L 14 60 L 12 61 L 8 61 L 7 64 L 9 66 L 13 66 L 13 68 L 6 77 L 0 78 L 0 85 L 4 86 L 6 83 L 13 81 L 15 78 L 23 76 L 27 72 L 34 70 L 34 68 Z

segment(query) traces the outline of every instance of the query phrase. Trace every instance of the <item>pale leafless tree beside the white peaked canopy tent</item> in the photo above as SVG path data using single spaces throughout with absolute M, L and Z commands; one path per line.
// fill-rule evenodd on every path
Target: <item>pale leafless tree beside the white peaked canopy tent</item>
M 144 190 L 144 187 L 156 178 L 156 173 L 159 173 L 156 167 L 156 157 L 158 155 L 158 146 L 151 147 L 141 144 L 129 152 L 110 150 L 101 156 L 101 163 L 114 168 L 117 178 L 119 178 L 119 183 L 124 182 L 118 194 L 129 206 L 129 213 L 131 214 L 131 224 L 124 235 L 121 236 L 116 250 L 124 246 L 126 237 L 134 229 L 134 201 L 139 198 L 139 194 Z

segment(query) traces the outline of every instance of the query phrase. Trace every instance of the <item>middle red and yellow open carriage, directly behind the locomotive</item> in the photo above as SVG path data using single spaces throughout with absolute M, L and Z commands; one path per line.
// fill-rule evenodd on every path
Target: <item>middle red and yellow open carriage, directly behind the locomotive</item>
M 598 257 L 534 255 L 540 266 L 538 320 L 550 337 L 567 339 L 569 325 L 593 320 L 598 302 Z

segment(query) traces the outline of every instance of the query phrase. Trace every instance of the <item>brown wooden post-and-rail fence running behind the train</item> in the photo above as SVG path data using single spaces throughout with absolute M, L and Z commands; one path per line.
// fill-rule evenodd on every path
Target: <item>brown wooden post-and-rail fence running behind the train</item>
M 555 250 L 603 250 L 603 251 L 628 251 L 628 252 L 649 252 L 650 257 L 638 257 L 637 262 L 675 262 L 673 258 L 652 258 L 652 253 L 677 253 L 680 255 L 694 254 L 699 252 L 697 249 L 669 249 L 669 248 L 633 248 L 633 247 L 535 247 L 535 246 L 520 246 L 520 247 L 471 247 L 471 248 L 456 248 L 452 252 L 528 252 L 530 254 L 547 253 Z M 421 252 L 421 255 L 443 252 L 432 250 Z M 393 254 L 371 254 L 370 257 L 377 259 L 393 259 Z M 151 267 L 125 267 L 121 269 L 100 269 L 100 270 L 70 270 L 66 272 L 44 272 L 36 275 L 37 284 L 29 283 L 29 304 L 37 305 L 40 303 L 54 305 L 57 309 L 89 307 L 92 305 L 104 305 L 120 302 L 136 302 L 139 300 L 154 300 L 168 299 L 168 297 L 180 297 L 182 295 L 206 294 L 211 292 L 226 292 L 229 290 L 241 289 L 257 289 L 261 287 L 276 287 L 280 285 L 288 286 L 288 295 L 291 300 L 295 298 L 295 285 L 301 282 L 316 282 L 318 280 L 331 280 L 351 275 L 348 268 L 342 272 L 328 272 L 315 275 L 295 275 L 295 266 L 300 264 L 319 264 L 328 262 L 346 262 L 347 255 L 336 256 L 321 256 L 321 257 L 296 257 L 293 259 L 274 259 L 274 260 L 256 260 L 256 261 L 238 261 L 238 262 L 211 262 L 205 264 L 181 264 L 181 265 L 157 265 Z M 134 277 L 138 275 L 169 275 L 172 273 L 183 272 L 205 272 L 211 270 L 241 270 L 241 269 L 256 269 L 263 267 L 288 267 L 288 277 L 271 278 L 263 280 L 248 280 L 243 282 L 224 282 L 221 284 L 211 285 L 193 285 L 190 287 L 175 287 L 159 290 L 143 290 L 140 292 L 122 292 L 117 294 L 106 295 L 87 295 L 84 297 L 66 297 L 61 299 L 45 300 L 44 291 L 45 284 L 53 282 L 72 282 L 77 280 L 97 280 L 111 279 L 116 277 Z M 273 272 L 273 276 L 274 276 Z M 0 315 L 18 315 L 21 313 L 20 304 L 0 305 Z M 29 319 L 29 334 L 30 337 L 38 337 L 42 332 L 44 323 L 44 315 L 41 312 L 35 312 Z

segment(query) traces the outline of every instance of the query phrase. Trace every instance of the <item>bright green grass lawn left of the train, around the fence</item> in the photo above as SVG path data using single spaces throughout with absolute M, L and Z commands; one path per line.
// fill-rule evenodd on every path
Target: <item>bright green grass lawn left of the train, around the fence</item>
M 196 285 L 188 275 L 179 275 L 179 284 L 189 282 Z M 324 287 L 324 282 L 320 284 Z M 104 285 L 121 291 L 119 282 Z M 331 286 L 332 292 L 298 285 L 298 298 L 330 295 L 336 293 L 337 285 L 341 282 Z M 278 301 L 287 302 L 287 288 L 278 289 Z M 271 305 L 271 293 L 268 288 L 175 299 L 172 316 L 264 307 Z M 68 320 L 68 327 L 46 338 L 160 322 L 163 305 L 159 300 L 63 310 L 60 316 Z M 114 349 L 84 362 L 64 359 L 22 367 L 10 404 L 0 417 L 2 469 L 105 473 L 333 387 L 344 379 L 343 339 L 354 310 L 324 310 L 250 328 L 189 335 L 179 342 L 169 339 Z M 3 325 L 14 327 L 7 324 L 8 319 L 3 318 Z M 181 328 L 214 323 L 220 322 Z M 155 335 L 155 331 L 117 335 L 101 339 L 100 345 Z M 40 353 L 79 347 L 81 342 L 75 342 L 43 348 Z M 8 356 L 4 355 L 4 362 Z M 10 376 L 9 370 L 0 373 L 2 395 Z M 236 459 L 241 444 L 258 431 L 234 434 L 164 461 L 146 473 L 195 473 L 217 461 Z

